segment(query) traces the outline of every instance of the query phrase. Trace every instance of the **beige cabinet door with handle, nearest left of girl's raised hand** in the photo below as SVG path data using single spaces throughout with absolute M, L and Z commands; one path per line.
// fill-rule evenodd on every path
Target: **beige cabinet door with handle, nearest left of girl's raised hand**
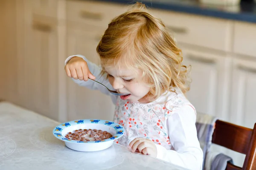
M 20 105 L 58 120 L 58 38 L 55 20 L 32 17 L 19 41 Z

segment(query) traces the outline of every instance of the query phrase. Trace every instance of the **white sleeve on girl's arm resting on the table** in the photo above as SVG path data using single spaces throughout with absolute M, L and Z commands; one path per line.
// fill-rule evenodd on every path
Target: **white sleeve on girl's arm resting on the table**
M 201 150 L 195 127 L 195 110 L 186 105 L 167 119 L 168 135 L 174 150 L 156 144 L 157 158 L 189 170 L 202 170 Z

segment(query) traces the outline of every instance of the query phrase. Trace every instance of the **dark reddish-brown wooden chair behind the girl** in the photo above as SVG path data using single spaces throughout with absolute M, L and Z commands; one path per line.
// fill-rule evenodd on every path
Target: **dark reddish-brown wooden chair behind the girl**
M 256 170 L 256 123 L 250 129 L 217 120 L 212 143 L 246 154 L 242 168 L 228 163 L 226 170 Z

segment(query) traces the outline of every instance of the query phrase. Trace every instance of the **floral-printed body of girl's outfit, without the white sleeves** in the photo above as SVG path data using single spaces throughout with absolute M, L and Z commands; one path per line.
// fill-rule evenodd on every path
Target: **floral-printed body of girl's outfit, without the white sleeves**
M 174 92 L 167 92 L 173 95 Z M 135 138 L 147 138 L 166 149 L 174 149 L 168 136 L 166 121 L 183 105 L 191 105 L 186 97 L 176 89 L 172 99 L 163 103 L 142 104 L 117 99 L 114 122 L 125 128 L 125 134 L 116 142 L 124 146 Z

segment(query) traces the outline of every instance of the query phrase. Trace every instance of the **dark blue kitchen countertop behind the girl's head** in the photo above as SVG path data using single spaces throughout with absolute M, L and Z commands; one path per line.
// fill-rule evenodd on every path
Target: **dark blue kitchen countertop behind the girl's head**
M 104 2 L 131 4 L 134 0 L 97 0 Z M 218 17 L 229 20 L 239 20 L 256 23 L 256 3 L 241 2 L 239 6 L 205 5 L 198 0 L 138 0 L 149 8 L 158 8 L 170 11 L 198 14 L 209 17 Z

